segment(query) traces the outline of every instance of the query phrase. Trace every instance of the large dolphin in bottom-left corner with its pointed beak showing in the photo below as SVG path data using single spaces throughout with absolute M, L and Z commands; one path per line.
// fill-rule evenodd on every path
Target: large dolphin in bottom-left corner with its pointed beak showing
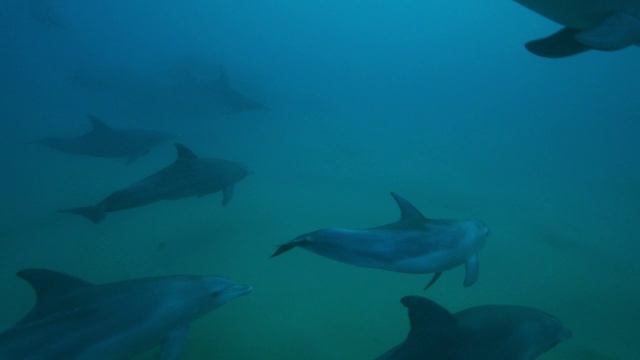
M 162 345 L 178 358 L 191 322 L 250 286 L 212 276 L 174 275 L 92 284 L 52 270 L 18 272 L 36 305 L 0 334 L 0 360 L 126 360 Z

